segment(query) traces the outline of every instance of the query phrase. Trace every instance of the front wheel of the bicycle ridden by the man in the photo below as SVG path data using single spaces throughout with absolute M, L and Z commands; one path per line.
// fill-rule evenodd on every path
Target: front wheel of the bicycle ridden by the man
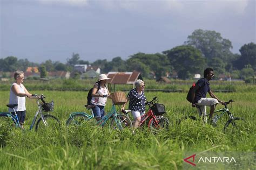
M 245 128 L 245 120 L 240 117 L 234 117 L 234 119 L 230 119 L 224 126 L 224 133 L 240 133 L 246 130 Z

